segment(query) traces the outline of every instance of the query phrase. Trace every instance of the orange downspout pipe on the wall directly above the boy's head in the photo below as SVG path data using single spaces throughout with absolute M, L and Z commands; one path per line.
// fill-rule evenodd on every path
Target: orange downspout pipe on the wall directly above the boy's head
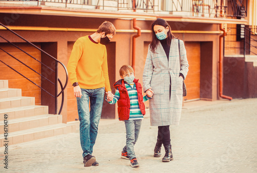
M 136 1 L 133 0 L 133 11 L 136 12 Z M 137 26 L 137 20 L 133 19 L 133 28 L 137 30 L 137 34 L 132 37 L 132 68 L 135 73 L 136 64 L 136 38 L 141 36 L 141 28 Z

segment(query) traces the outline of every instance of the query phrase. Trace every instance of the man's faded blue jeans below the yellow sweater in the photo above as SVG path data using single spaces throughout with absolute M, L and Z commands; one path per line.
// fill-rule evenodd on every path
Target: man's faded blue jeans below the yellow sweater
M 81 98 L 77 97 L 80 120 L 80 144 L 83 158 L 92 154 L 96 142 L 98 124 L 102 113 L 104 87 L 99 89 L 81 89 Z M 90 100 L 90 111 L 89 111 Z

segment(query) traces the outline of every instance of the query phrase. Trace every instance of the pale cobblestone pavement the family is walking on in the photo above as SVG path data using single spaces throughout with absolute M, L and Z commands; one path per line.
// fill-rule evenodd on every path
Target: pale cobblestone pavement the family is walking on
M 171 127 L 174 161 L 169 163 L 153 157 L 157 127 L 150 126 L 148 111 L 135 144 L 138 168 L 120 158 L 124 123 L 101 119 L 93 152 L 99 166 L 83 166 L 77 132 L 9 146 L 8 170 L 0 148 L 0 172 L 257 172 L 257 99 L 189 104 L 180 125 Z

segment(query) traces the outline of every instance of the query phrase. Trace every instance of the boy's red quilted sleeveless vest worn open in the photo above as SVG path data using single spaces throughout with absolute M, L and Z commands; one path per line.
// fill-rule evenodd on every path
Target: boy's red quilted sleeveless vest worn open
M 137 95 L 138 95 L 138 103 L 141 113 L 145 115 L 145 107 L 143 103 L 143 95 L 142 95 L 142 86 L 138 82 L 138 79 L 134 79 L 133 81 L 136 84 Z M 130 97 L 128 96 L 128 92 L 124 83 L 124 79 L 120 79 L 114 83 L 114 88 L 119 89 L 120 99 L 117 101 L 118 103 L 118 114 L 119 120 L 127 120 L 130 118 Z

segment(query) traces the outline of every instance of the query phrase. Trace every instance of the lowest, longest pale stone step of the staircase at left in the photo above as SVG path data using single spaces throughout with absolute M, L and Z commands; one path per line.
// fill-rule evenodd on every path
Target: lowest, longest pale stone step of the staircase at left
M 20 144 L 23 142 L 29 142 L 33 140 L 39 140 L 46 137 L 52 137 L 61 134 L 67 134 L 76 132 L 76 125 L 69 125 L 69 124 L 57 124 L 57 125 L 50 125 L 50 126 L 43 126 L 28 130 L 22 130 L 17 132 L 10 132 L 8 133 L 8 145 L 13 144 Z M 1 146 L 3 147 L 6 140 L 5 136 L 1 135 L 0 137 Z

